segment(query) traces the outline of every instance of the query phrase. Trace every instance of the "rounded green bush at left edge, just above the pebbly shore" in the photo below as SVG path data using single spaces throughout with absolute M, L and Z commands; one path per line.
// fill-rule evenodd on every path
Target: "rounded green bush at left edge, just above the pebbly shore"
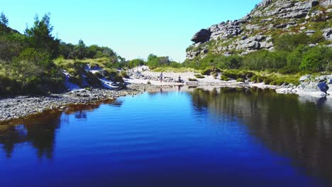
M 48 53 L 27 48 L 12 62 L 1 62 L 0 92 L 4 94 L 47 94 L 62 91 L 62 72 L 52 63 Z M 10 83 L 11 85 L 7 85 Z

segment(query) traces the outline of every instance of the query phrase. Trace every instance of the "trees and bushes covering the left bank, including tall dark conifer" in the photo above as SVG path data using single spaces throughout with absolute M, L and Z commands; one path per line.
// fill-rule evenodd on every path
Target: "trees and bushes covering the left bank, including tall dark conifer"
M 115 68 L 128 62 L 109 47 L 62 42 L 52 35 L 50 14 L 35 16 L 33 26 L 23 34 L 9 28 L 9 19 L 0 15 L 0 95 L 48 94 L 65 91 L 62 69 L 73 75 L 70 81 L 83 85 L 82 77 L 100 86 L 98 74 L 85 72 L 86 64 L 106 69 L 105 77 L 121 81 Z M 90 60 L 87 60 L 90 59 Z

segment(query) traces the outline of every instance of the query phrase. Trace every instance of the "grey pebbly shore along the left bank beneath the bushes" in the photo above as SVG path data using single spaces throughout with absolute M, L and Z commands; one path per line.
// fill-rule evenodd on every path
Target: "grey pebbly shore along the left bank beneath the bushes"
M 106 101 L 121 96 L 135 96 L 143 91 L 156 91 L 161 86 L 131 84 L 127 89 L 107 90 L 79 89 L 65 94 L 50 96 L 17 96 L 15 98 L 0 98 L 0 124 L 11 120 L 25 118 L 28 115 L 43 113 L 49 110 L 65 109 L 70 105 L 89 104 Z

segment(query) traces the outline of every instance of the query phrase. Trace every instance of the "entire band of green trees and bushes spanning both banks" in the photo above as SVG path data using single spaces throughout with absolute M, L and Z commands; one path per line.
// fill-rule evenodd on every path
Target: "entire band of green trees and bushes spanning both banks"
M 66 70 L 72 75 L 70 81 L 84 86 L 88 83 L 101 86 L 99 78 L 122 82 L 128 77 L 126 72 L 116 69 L 130 69 L 148 65 L 159 72 L 199 72 L 216 75 L 220 72 L 223 80 L 250 79 L 266 84 L 297 84 L 301 74 L 332 72 L 332 48 L 324 43 L 321 33 L 308 36 L 304 33 L 284 34 L 274 38 L 275 50 L 258 50 L 248 55 L 217 55 L 211 52 L 203 58 L 186 60 L 180 64 L 169 57 L 149 55 L 148 60 L 126 61 L 109 47 L 85 45 L 83 40 L 74 45 L 61 41 L 52 35 L 50 14 L 42 18 L 35 16 L 33 26 L 23 34 L 9 28 L 9 19 L 0 15 L 0 95 L 48 94 L 65 91 Z M 84 69 L 102 68 L 100 74 L 92 74 Z M 197 75 L 197 79 L 201 75 Z

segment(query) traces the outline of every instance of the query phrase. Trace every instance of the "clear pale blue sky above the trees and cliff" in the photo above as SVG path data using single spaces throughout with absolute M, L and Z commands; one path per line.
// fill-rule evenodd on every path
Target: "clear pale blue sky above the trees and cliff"
M 37 13 L 51 13 L 53 34 L 65 42 L 111 47 L 131 60 L 150 53 L 185 60 L 190 39 L 201 28 L 242 18 L 260 0 L 11 0 L 0 11 L 23 33 Z

